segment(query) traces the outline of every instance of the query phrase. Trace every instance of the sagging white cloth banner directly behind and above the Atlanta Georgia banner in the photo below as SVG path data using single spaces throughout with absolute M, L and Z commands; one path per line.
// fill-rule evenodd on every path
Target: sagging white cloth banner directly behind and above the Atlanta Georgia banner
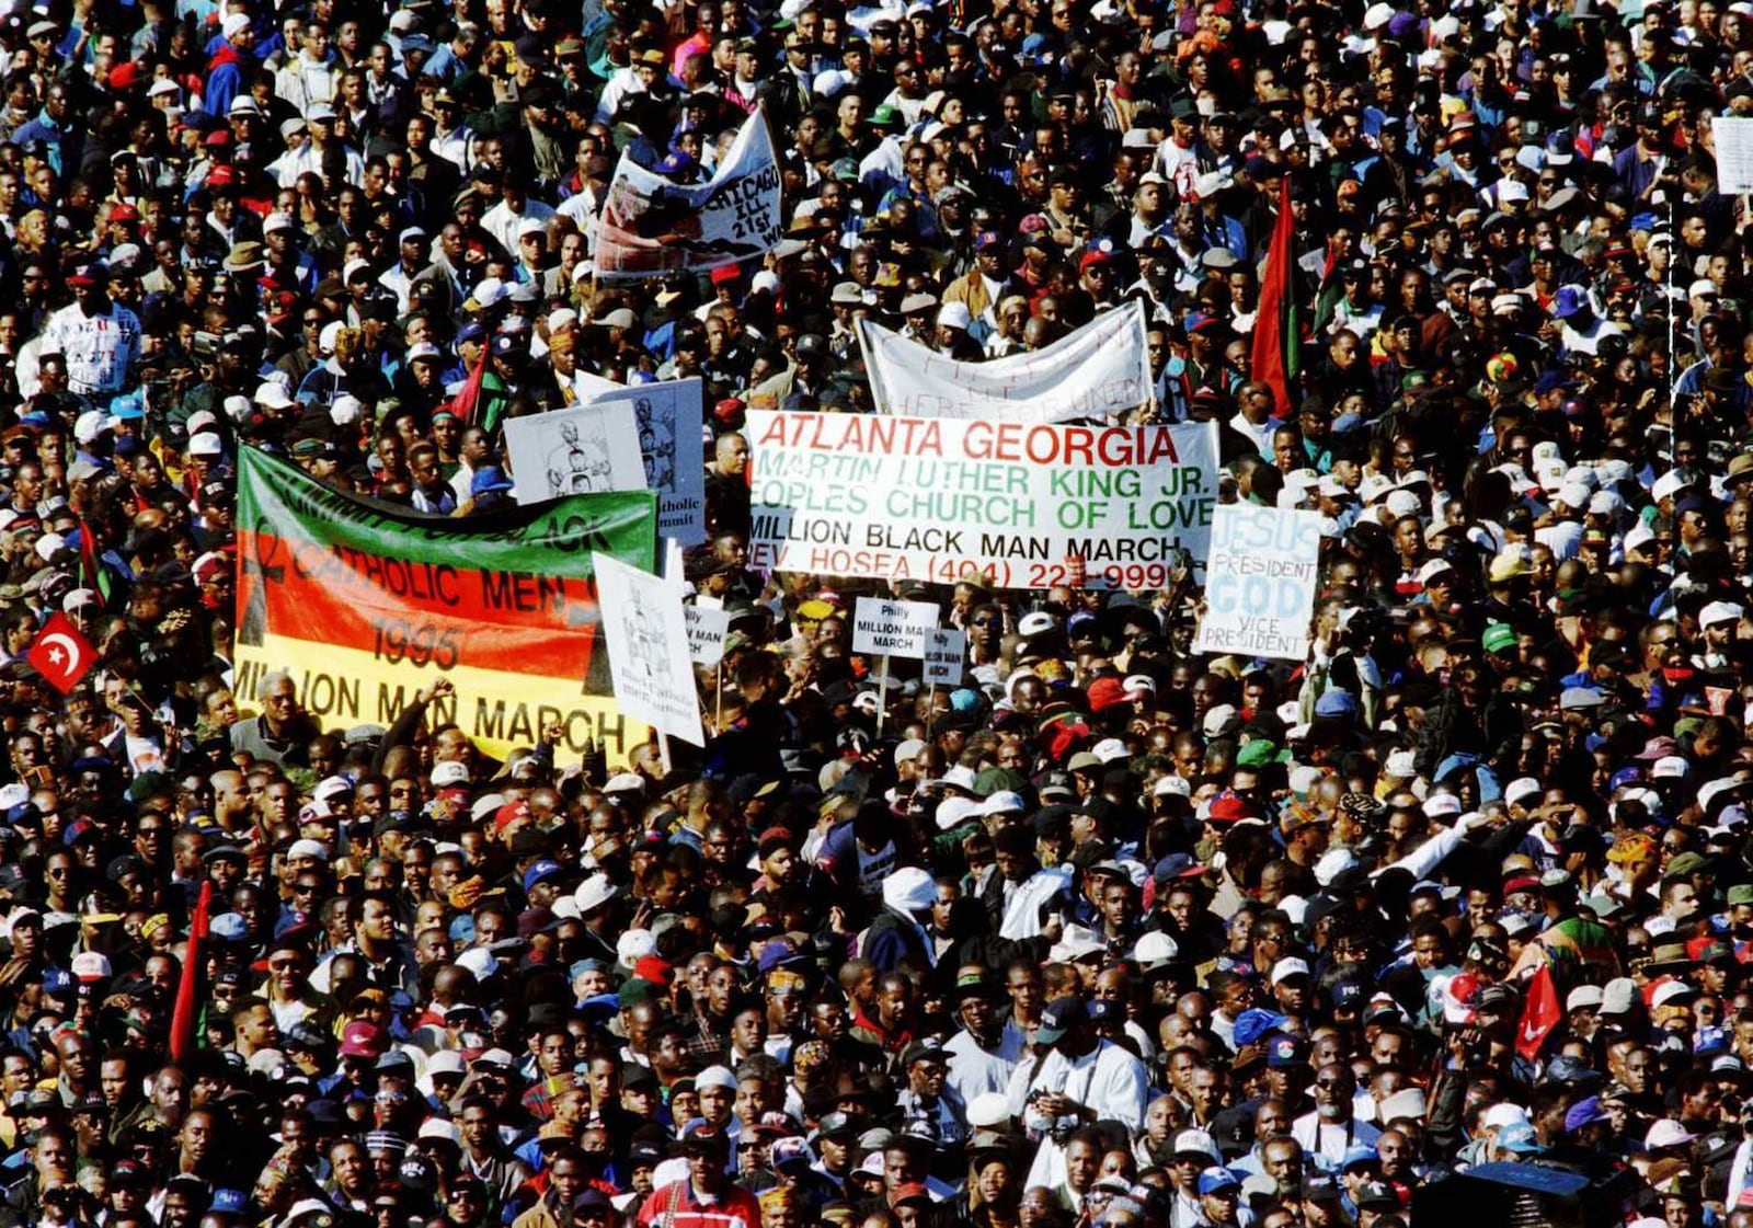
M 878 413 L 1001 422 L 1066 422 L 1136 410 L 1150 399 L 1145 307 L 1127 301 L 1043 350 L 957 363 L 882 324 L 859 321 Z

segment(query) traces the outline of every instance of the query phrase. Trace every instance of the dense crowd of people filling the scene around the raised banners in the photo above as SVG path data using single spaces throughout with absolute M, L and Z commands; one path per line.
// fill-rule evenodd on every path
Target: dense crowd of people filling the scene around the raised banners
M 1753 1226 L 1746 0 L 0 46 L 0 1228 Z M 750 116 L 777 245 L 601 277 L 621 159 Z M 861 317 L 983 361 L 1129 300 L 1134 417 L 1322 517 L 1306 660 L 1196 653 L 1197 568 L 750 571 L 745 415 L 869 412 Z M 391 729 L 233 694 L 245 448 L 466 517 L 507 420 L 696 377 L 701 753 L 493 759 L 436 666 Z

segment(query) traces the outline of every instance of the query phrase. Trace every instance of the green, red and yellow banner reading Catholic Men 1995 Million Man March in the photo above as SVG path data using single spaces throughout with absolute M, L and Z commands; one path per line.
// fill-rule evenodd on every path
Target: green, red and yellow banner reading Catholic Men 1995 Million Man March
M 465 519 L 403 513 L 244 448 L 238 494 L 237 692 L 273 669 L 326 729 L 389 725 L 433 678 L 431 718 L 489 755 L 549 722 L 578 753 L 619 762 L 645 729 L 610 697 L 591 552 L 652 569 L 650 490 L 505 505 Z

